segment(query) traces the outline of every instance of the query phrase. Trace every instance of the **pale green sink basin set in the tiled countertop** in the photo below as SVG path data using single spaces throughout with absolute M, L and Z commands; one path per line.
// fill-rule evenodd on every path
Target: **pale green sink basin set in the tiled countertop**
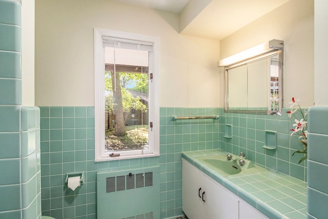
M 245 160 L 245 158 L 242 158 L 245 164 L 240 166 L 238 164 L 239 159 L 240 157 L 234 155 L 232 160 L 228 160 L 227 154 L 197 157 L 197 160 L 201 163 L 214 167 L 216 170 L 228 175 L 261 171 L 260 167 L 255 166 L 252 162 Z

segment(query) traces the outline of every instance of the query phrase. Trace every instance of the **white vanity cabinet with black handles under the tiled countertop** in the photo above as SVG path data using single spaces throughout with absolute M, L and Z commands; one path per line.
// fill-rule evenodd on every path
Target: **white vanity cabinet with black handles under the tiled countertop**
M 184 158 L 182 210 L 189 219 L 268 218 Z

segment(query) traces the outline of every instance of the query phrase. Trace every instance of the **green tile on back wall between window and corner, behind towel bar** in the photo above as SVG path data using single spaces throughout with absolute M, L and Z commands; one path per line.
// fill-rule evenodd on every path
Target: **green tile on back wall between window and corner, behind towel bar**
M 218 115 L 219 108 L 160 108 L 161 218 L 182 214 L 181 152 L 219 147 L 219 120 L 177 120 L 171 116 Z

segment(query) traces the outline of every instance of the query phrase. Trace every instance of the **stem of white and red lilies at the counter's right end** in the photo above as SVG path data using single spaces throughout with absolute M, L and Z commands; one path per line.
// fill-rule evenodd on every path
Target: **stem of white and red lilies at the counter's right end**
M 304 111 L 301 109 L 301 107 L 299 106 L 299 104 L 297 102 L 299 102 L 300 99 L 297 99 L 295 101 L 295 98 L 292 98 L 292 102 L 290 102 L 291 107 L 290 107 L 290 111 L 288 111 L 288 117 L 292 118 L 292 116 L 295 117 L 294 120 L 294 124 L 293 124 L 293 128 L 290 129 L 290 131 L 292 131 L 292 134 L 295 135 L 299 135 L 299 139 L 301 141 L 301 143 L 303 144 L 303 150 L 297 150 L 293 153 L 293 156 L 295 153 L 302 153 L 304 154 L 304 156 L 299 160 L 299 164 L 302 161 L 305 161 L 308 158 L 308 131 L 306 130 L 308 128 L 308 122 L 306 122 L 306 115 L 308 114 L 307 111 Z M 299 114 L 298 112 L 300 112 L 300 115 L 302 116 L 302 118 L 300 120 L 298 120 L 297 115 Z

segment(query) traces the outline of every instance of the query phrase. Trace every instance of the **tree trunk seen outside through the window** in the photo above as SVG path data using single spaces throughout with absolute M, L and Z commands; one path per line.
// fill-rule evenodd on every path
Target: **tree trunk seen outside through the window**
M 111 72 L 113 97 L 114 97 L 114 113 L 115 113 L 115 136 L 125 136 L 127 134 L 124 123 L 124 110 L 122 104 L 122 92 L 119 80 L 119 73 L 116 72 L 116 78 L 114 72 Z M 115 89 L 116 84 L 116 89 Z

